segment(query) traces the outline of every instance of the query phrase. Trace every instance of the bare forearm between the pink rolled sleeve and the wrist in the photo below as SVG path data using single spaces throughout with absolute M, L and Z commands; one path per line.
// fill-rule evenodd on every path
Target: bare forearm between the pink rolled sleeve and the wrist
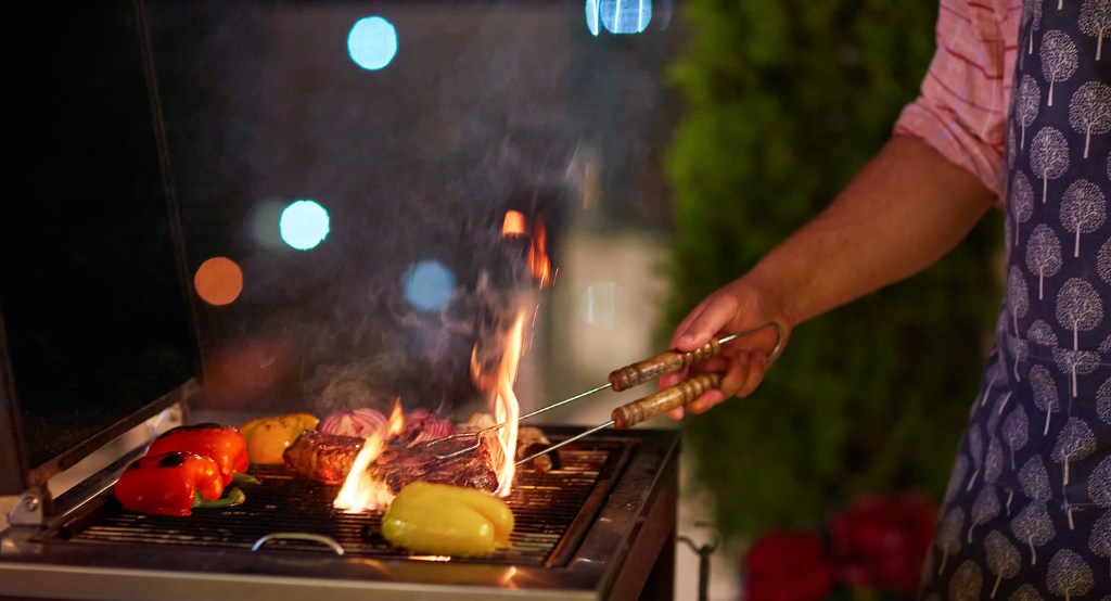
M 991 207 L 975 177 L 895 137 L 818 217 L 742 280 L 793 327 L 907 278 L 952 250 Z

